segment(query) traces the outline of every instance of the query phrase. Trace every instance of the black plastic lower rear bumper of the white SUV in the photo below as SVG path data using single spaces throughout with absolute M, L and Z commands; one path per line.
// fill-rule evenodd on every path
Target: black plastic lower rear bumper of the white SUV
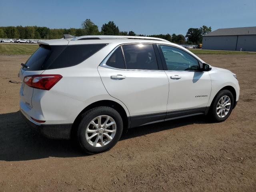
M 20 114 L 30 126 L 47 138 L 70 139 L 72 124 L 35 124 L 23 114 L 22 110 Z

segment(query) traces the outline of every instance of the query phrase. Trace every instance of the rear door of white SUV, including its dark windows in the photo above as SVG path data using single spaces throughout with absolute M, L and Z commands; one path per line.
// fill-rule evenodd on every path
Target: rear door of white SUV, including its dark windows
M 156 45 L 126 44 L 113 50 L 98 67 L 108 93 L 127 106 L 131 127 L 166 116 L 169 82 L 159 62 Z

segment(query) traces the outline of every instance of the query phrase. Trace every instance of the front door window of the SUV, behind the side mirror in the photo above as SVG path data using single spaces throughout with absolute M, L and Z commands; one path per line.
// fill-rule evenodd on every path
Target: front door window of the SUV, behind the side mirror
M 167 70 L 199 71 L 198 60 L 187 52 L 172 46 L 160 45 L 166 61 Z

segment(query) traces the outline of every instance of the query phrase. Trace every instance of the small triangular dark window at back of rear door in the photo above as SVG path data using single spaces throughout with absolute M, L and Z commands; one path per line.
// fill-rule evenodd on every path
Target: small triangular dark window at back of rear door
M 106 65 L 114 68 L 125 69 L 124 58 L 120 47 L 118 47 L 110 56 Z

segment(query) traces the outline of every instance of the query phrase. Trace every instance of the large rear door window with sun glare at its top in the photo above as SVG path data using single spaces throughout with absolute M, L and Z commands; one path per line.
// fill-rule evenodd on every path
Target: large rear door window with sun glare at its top
M 127 69 L 158 70 L 152 44 L 123 45 Z

